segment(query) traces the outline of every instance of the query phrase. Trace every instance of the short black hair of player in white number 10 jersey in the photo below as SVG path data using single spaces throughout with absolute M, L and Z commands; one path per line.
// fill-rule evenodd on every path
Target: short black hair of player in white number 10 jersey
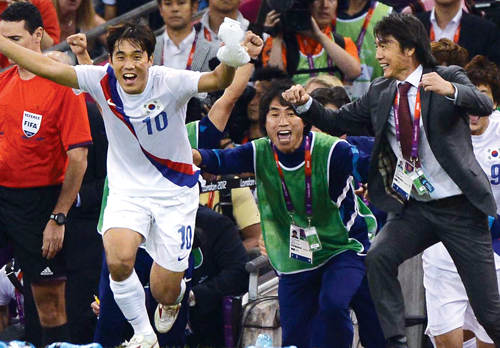
M 113 52 L 116 45 L 122 41 L 130 41 L 132 45 L 140 47 L 148 54 L 148 58 L 153 55 L 156 36 L 146 23 L 142 20 L 130 20 L 109 27 L 106 37 L 106 48 L 113 60 Z

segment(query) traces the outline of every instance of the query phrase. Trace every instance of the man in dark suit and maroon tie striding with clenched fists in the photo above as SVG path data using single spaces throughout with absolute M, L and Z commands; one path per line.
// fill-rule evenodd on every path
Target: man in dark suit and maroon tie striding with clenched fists
M 496 205 L 472 152 L 467 120 L 467 113 L 490 114 L 493 105 L 461 68 L 436 67 L 425 28 L 415 17 L 385 17 L 375 37 L 384 76 L 354 103 L 326 110 L 301 86 L 283 97 L 329 133 L 373 125 L 368 189 L 372 203 L 390 214 L 366 262 L 388 347 L 407 347 L 398 267 L 439 240 L 457 265 L 479 322 L 500 347 L 487 222 Z M 403 170 L 396 166 L 401 161 Z

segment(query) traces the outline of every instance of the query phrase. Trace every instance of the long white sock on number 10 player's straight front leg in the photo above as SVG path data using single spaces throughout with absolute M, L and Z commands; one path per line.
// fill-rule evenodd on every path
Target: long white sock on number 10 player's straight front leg
M 109 286 L 113 291 L 116 304 L 134 328 L 134 333 L 139 335 L 154 334 L 146 310 L 146 294 L 135 270 L 128 279 L 122 282 L 114 281 L 110 275 Z

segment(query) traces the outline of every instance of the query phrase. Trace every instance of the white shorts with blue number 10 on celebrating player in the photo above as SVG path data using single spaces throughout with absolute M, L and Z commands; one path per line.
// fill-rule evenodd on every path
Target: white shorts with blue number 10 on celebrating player
M 129 197 L 109 193 L 104 210 L 103 234 L 127 228 L 141 234 L 148 254 L 161 267 L 183 272 L 193 245 L 198 186 L 171 198 Z

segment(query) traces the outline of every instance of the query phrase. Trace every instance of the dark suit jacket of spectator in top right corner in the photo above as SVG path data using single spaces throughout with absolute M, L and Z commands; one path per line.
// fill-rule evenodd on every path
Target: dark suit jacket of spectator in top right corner
M 430 34 L 431 11 L 415 15 Z M 500 28 L 487 19 L 462 11 L 462 28 L 458 44 L 469 52 L 469 60 L 480 54 L 500 64 Z

